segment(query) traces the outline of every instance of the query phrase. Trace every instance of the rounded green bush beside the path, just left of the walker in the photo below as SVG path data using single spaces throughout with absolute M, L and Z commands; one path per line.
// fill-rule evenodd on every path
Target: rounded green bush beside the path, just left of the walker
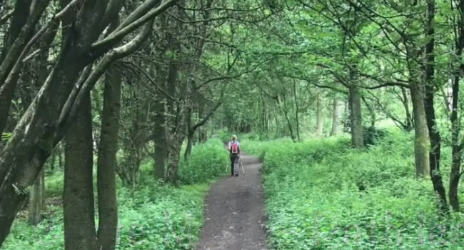
M 194 146 L 188 160 L 181 160 L 179 178 L 184 184 L 193 184 L 228 173 L 228 152 L 219 139 Z

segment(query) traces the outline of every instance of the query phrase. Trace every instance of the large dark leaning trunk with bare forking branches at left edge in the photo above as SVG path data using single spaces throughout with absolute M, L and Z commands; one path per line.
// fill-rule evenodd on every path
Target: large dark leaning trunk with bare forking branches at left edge
M 66 4 L 69 1 L 61 2 Z M 76 2 L 78 1 L 72 1 L 72 4 Z M 111 21 L 114 14 L 118 12 L 117 8 L 109 8 L 105 12 L 107 3 L 108 1 L 104 0 L 83 1 L 79 2 L 79 11 L 68 6 L 60 12 L 63 30 L 61 53 L 40 94 L 36 96 L 26 114 L 21 117 L 13 136 L 0 151 L 0 246 L 9 234 L 19 207 L 26 199 L 24 190 L 34 184 L 44 162 L 51 154 L 51 149 L 69 130 L 69 125 L 74 125 L 75 114 L 81 107 L 79 102 L 82 101 L 83 95 L 85 97 L 89 93 L 89 88 L 94 86 L 96 79 L 109 62 L 133 53 L 133 50 L 140 46 L 143 36 L 136 36 L 131 42 L 118 49 L 114 49 L 113 44 L 123 39 L 127 32 L 142 25 L 145 25 L 142 31 L 147 31 L 148 34 L 150 30 L 146 28 L 153 26 L 150 22 L 162 11 L 176 4 L 176 0 L 163 1 L 163 4 L 156 9 L 153 9 L 153 6 L 158 4 L 158 1 L 150 1 L 153 5 L 142 4 L 136 12 L 138 14 L 150 12 L 143 16 L 142 20 L 138 19 L 140 21 L 136 25 L 126 26 L 123 31 L 118 32 L 121 36 L 109 36 L 95 43 L 106 28 L 106 21 Z M 102 19 L 102 16 L 106 19 Z M 133 21 L 130 19 L 127 22 L 133 24 Z M 78 103 L 69 100 L 82 69 L 110 50 L 111 53 L 106 54 L 99 61 L 97 65 L 99 71 L 93 71 L 91 74 L 93 78 L 86 81 L 85 90 L 79 92 L 75 100 Z M 70 102 L 67 102 L 68 100 Z

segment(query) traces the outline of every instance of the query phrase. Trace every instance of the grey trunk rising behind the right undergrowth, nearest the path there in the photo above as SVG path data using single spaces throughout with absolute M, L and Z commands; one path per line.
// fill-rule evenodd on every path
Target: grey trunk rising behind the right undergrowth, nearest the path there
M 361 116 L 361 99 L 357 86 L 349 86 L 350 91 L 350 124 L 351 146 L 362 148 L 364 146 L 363 120 Z

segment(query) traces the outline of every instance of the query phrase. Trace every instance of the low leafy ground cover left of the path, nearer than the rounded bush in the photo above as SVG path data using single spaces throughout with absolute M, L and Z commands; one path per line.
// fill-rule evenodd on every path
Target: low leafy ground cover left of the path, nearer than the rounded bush
M 135 192 L 119 189 L 116 249 L 193 249 L 203 225 L 203 196 L 207 190 L 207 184 L 178 189 L 154 181 Z M 49 206 L 36 228 L 18 219 L 2 249 L 64 249 L 61 207 Z

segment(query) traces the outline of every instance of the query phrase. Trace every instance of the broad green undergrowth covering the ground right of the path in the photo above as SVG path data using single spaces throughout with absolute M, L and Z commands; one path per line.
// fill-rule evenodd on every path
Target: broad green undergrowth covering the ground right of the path
M 272 249 L 463 249 L 463 219 L 438 216 L 430 180 L 415 179 L 410 135 L 369 149 L 347 139 L 243 145 L 264 157 Z

